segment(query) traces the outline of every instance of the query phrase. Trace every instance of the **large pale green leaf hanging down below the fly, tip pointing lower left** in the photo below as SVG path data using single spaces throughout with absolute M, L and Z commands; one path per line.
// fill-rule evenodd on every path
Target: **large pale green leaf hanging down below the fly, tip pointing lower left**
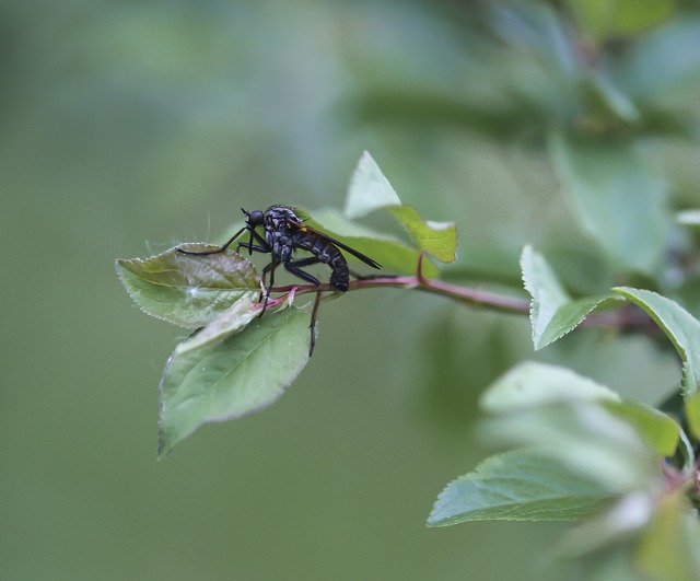
M 257 411 L 282 395 L 308 360 L 308 313 L 267 314 L 224 340 L 195 335 L 173 352 L 161 381 L 159 455 L 211 421 Z

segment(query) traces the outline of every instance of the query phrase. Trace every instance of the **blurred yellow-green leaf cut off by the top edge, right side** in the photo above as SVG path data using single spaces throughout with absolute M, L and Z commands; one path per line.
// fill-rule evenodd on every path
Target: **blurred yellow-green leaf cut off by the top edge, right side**
M 673 12 L 670 0 L 572 0 L 570 4 L 582 28 L 596 42 L 640 33 Z

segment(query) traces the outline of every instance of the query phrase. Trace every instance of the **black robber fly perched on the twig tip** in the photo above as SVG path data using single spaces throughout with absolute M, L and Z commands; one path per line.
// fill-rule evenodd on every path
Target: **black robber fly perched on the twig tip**
M 322 283 L 316 277 L 302 270 L 302 267 L 319 263 L 328 265 L 331 269 L 330 284 L 340 292 L 347 292 L 351 272 L 346 257 L 340 252 L 341 249 L 372 268 L 378 269 L 382 268 L 382 265 L 347 244 L 330 237 L 328 234 L 324 234 L 305 224 L 295 210 L 289 206 L 270 206 L 264 212 L 260 210 L 248 212 L 243 208 L 241 208 L 241 210 L 246 216 L 245 225 L 231 236 L 223 246 L 213 251 L 203 252 L 189 252 L 182 248 L 178 248 L 178 251 L 183 254 L 196 255 L 222 253 L 231 246 L 243 232 L 247 231 L 249 233 L 248 242 L 238 242 L 236 252 L 241 248 L 247 248 L 248 254 L 259 252 L 271 256 L 270 264 L 262 269 L 262 280 L 265 281 L 265 277 L 269 274 L 270 283 L 267 286 L 264 295 L 260 316 L 262 316 L 267 307 L 270 290 L 275 286 L 275 269 L 279 265 L 282 265 L 285 270 L 295 277 L 311 284 L 315 284 L 317 288 L 316 301 L 314 302 L 310 325 L 311 347 L 308 355 L 311 356 L 314 352 L 314 346 L 316 344 L 316 313 L 320 304 Z M 264 228 L 262 234 L 257 231 L 259 226 Z M 295 251 L 306 251 L 311 253 L 312 256 L 294 259 Z M 353 276 L 355 275 L 353 274 Z M 262 297 L 260 299 L 262 299 Z

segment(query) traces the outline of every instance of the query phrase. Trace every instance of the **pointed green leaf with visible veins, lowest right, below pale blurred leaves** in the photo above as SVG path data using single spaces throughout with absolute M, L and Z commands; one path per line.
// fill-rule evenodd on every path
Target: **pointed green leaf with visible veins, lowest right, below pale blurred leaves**
M 609 493 L 537 449 L 491 456 L 440 493 L 430 526 L 485 521 L 571 521 L 597 510 Z

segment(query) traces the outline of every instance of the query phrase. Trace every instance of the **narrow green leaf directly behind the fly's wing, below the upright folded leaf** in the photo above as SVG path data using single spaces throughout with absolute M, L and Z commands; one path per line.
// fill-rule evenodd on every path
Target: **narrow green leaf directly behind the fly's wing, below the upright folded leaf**
M 401 244 L 395 239 L 380 234 L 373 230 L 359 225 L 343 218 L 339 212 L 326 209 L 314 212 L 310 225 L 328 233 L 334 239 L 346 243 L 362 254 L 365 254 L 380 263 L 382 269 L 387 272 L 412 275 L 418 266 L 420 252 Z M 351 255 L 347 255 L 350 259 Z M 438 269 L 425 260 L 423 272 L 427 277 L 435 277 Z

